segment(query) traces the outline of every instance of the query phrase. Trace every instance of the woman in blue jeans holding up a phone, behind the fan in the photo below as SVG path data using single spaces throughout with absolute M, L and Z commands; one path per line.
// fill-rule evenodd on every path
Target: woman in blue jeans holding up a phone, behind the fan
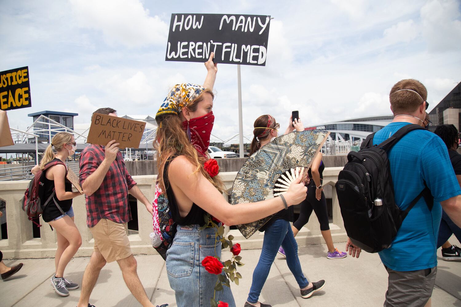
M 293 125 L 293 126 L 292 126 Z M 261 147 L 271 142 L 272 138 L 278 137 L 278 128 L 280 125 L 276 123 L 275 118 L 271 115 L 262 115 L 254 121 L 253 141 L 250 147 L 250 156 L 258 151 Z M 290 123 L 285 131 L 285 134 L 293 131 L 303 131 L 301 121 L 295 118 Z M 260 259 L 253 272 L 253 282 L 251 283 L 250 292 L 248 294 L 245 307 L 271 307 L 271 305 L 263 304 L 258 301 L 262 287 L 266 282 L 267 276 L 277 255 L 280 245 L 286 250 L 286 261 L 299 285 L 301 297 L 308 298 L 314 292 L 320 290 L 325 285 L 324 280 L 310 283 L 301 269 L 301 263 L 298 258 L 298 244 L 296 243 L 293 232 L 291 231 L 290 222 L 293 221 L 293 207 L 288 210 L 281 210 L 260 228 L 264 233 L 262 250 Z

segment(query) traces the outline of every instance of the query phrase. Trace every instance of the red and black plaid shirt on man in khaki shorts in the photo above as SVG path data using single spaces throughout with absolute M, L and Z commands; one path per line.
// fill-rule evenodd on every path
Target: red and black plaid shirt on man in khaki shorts
M 105 157 L 104 146 L 89 145 L 80 155 L 80 185 L 95 172 Z M 112 162 L 101 186 L 91 196 L 85 195 L 87 225 L 94 227 L 100 219 L 126 223 L 131 220 L 128 190 L 136 185 L 128 174 L 120 151 Z

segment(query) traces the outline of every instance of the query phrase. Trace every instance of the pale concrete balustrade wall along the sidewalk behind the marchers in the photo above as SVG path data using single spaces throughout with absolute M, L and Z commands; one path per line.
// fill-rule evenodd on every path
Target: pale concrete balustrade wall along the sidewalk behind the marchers
M 236 159 L 229 159 L 236 160 Z M 237 162 L 235 162 L 237 163 Z M 324 171 L 324 185 L 334 185 L 337 175 L 342 168 L 326 168 Z M 154 196 L 154 175 L 135 176 L 138 186 L 146 197 L 151 200 Z M 230 190 L 236 177 L 236 172 L 222 173 L 226 189 Z M 41 219 L 40 238 L 34 238 L 32 222 L 22 211 L 19 201 L 24 195 L 28 181 L 2 181 L 0 182 L 0 198 L 6 201 L 6 221 L 8 239 L 0 240 L 0 250 L 5 258 L 47 258 L 54 257 L 56 245 L 56 232 L 51 231 L 47 223 Z M 333 221 L 330 224 L 334 242 L 344 242 L 346 233 L 337 203 L 336 191 L 331 189 Z M 327 195 L 328 197 L 328 195 Z M 94 240 L 86 226 L 86 207 L 84 196 L 74 198 L 73 209 L 75 223 L 82 235 L 82 246 L 76 256 L 89 256 L 93 251 Z M 152 216 L 146 211 L 144 205 L 138 202 L 138 227 L 139 232 L 129 234 L 131 249 L 135 255 L 156 254 L 150 244 L 149 234 L 152 232 Z M 244 239 L 238 230 L 231 230 L 235 243 L 240 243 L 243 249 L 256 249 L 262 247 L 263 233 L 257 232 L 248 240 Z M 320 233 L 319 223 L 311 217 L 307 225 L 300 231 L 296 240 L 299 245 L 320 244 L 323 238 Z

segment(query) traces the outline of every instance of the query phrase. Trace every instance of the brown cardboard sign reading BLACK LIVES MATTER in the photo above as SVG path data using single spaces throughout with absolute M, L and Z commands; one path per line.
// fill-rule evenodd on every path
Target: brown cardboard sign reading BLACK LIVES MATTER
M 104 145 L 115 139 L 118 148 L 139 148 L 145 122 L 93 113 L 87 142 Z

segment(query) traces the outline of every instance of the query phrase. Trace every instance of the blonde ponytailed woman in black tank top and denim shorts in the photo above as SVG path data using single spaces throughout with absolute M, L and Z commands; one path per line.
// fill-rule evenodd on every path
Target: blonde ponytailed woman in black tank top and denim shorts
M 32 173 L 35 174 L 39 169 L 43 170 L 48 163 L 56 163 L 45 171 L 43 199 L 52 197 L 52 200 L 43 210 L 42 218 L 56 230 L 58 237 L 58 249 L 54 257 L 56 272 L 51 278 L 51 283 L 56 293 L 61 296 L 67 296 L 69 290 L 78 288 L 78 284 L 64 278 L 65 267 L 82 245 L 82 237 L 75 226 L 72 209 L 72 198 L 79 196 L 80 192 L 72 192 L 72 185 L 65 178 L 67 173 L 65 159 L 73 155 L 76 148 L 72 134 L 56 133 L 51 139 L 51 145 L 48 145 L 40 165 L 32 168 Z

